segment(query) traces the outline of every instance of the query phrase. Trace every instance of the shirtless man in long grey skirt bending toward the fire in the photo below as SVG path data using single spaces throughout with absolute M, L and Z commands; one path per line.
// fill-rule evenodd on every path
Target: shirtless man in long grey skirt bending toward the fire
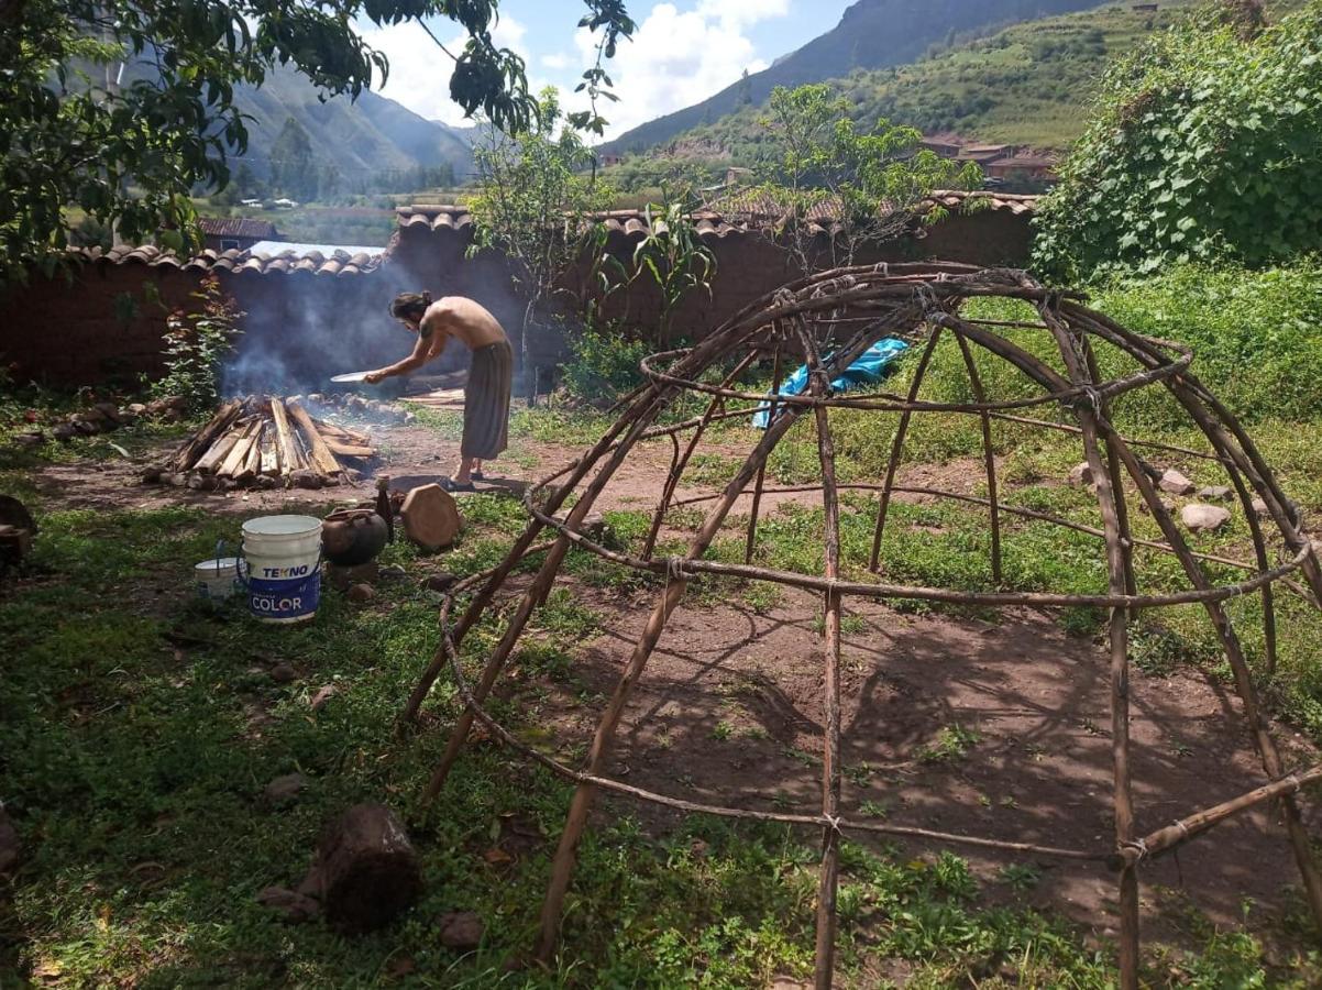
M 408 374 L 440 357 L 455 337 L 473 352 L 464 389 L 464 439 L 459 467 L 442 481 L 448 492 L 472 492 L 473 478 L 483 480 L 483 461 L 508 445 L 509 389 L 514 354 L 496 317 L 464 296 L 444 296 L 435 303 L 428 292 L 403 292 L 390 304 L 390 315 L 418 334 L 412 354 L 368 374 L 371 385 L 391 375 Z

